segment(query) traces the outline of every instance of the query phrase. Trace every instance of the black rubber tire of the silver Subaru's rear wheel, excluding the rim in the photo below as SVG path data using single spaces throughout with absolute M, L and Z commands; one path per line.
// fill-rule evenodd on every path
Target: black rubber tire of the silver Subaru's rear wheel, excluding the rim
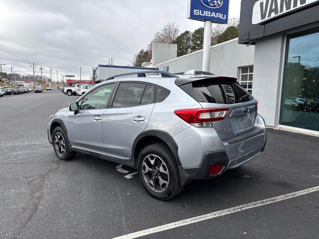
M 148 155 L 156 155 L 158 156 L 167 166 L 167 170 L 169 173 L 169 181 L 165 190 L 162 192 L 155 192 L 150 186 L 147 185 L 145 178 L 142 172 L 143 161 Z M 181 185 L 181 180 L 179 176 L 179 171 L 177 167 L 177 163 L 171 152 L 170 148 L 164 143 L 155 143 L 143 148 L 140 152 L 137 160 L 137 172 L 140 182 L 145 188 L 146 192 L 148 192 L 154 198 L 165 201 L 174 198 L 180 192 L 182 192 L 184 186 Z M 159 172 L 160 173 L 160 172 Z

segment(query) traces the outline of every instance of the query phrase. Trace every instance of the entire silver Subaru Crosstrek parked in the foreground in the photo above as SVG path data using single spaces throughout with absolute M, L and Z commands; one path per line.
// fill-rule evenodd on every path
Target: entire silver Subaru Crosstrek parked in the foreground
M 48 140 L 61 160 L 81 152 L 137 168 L 145 190 L 167 200 L 190 181 L 219 176 L 264 150 L 257 109 L 235 78 L 126 73 L 50 116 Z

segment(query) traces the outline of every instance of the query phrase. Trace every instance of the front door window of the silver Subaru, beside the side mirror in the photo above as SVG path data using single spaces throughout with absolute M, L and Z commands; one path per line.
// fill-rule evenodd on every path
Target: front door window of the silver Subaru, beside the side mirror
M 115 83 L 103 85 L 91 91 L 89 94 L 85 95 L 85 97 L 83 97 L 80 109 L 89 110 L 106 108 L 108 98 L 110 98 L 114 86 Z

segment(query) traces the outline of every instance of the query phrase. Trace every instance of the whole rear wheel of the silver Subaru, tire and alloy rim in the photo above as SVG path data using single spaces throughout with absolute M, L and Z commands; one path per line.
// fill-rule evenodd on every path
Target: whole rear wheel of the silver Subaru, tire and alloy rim
M 146 146 L 139 154 L 137 165 L 139 180 L 154 198 L 164 201 L 182 192 L 177 163 L 166 144 Z

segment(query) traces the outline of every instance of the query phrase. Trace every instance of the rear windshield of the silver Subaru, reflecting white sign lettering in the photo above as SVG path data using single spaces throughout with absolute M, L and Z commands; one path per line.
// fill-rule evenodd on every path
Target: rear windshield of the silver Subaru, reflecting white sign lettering
M 254 99 L 235 81 L 203 79 L 180 87 L 198 102 L 231 105 Z

